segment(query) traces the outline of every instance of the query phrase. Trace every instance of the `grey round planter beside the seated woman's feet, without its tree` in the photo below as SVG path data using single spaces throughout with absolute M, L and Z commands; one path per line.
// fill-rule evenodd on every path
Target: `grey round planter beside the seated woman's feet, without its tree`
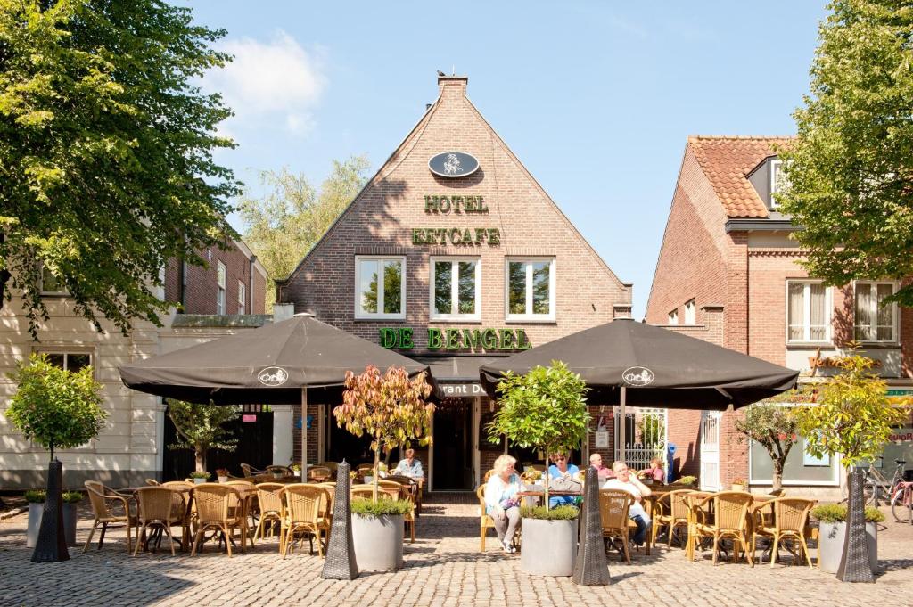
M 530 575 L 573 575 L 573 561 L 577 557 L 577 521 L 577 518 L 524 518 L 520 570 Z

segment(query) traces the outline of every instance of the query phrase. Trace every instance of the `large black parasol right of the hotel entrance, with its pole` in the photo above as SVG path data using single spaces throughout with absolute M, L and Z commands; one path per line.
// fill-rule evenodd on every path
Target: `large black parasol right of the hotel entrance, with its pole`
M 739 408 L 790 390 L 799 372 L 631 319 L 582 330 L 479 368 L 491 396 L 504 373 L 563 361 L 591 400 L 668 409 Z M 622 418 L 624 419 L 624 417 Z M 621 424 L 624 432 L 624 424 Z M 624 458 L 624 435 L 621 437 Z

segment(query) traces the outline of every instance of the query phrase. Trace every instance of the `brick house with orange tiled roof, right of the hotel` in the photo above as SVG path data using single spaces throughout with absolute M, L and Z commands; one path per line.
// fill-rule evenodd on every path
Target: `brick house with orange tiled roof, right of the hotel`
M 832 374 L 828 359 L 859 340 L 867 356 L 881 361 L 894 393 L 913 393 L 913 315 L 878 306 L 897 284 L 875 279 L 825 288 L 798 264 L 803 253 L 790 238 L 796 227 L 772 196 L 780 180 L 777 149 L 788 142 L 688 138 L 645 320 L 799 370 L 801 382 Z M 711 489 L 736 477 L 770 485 L 770 457 L 760 445 L 741 444 L 734 430 L 740 414 L 669 412 L 679 473 L 699 475 Z M 913 445 L 900 440 L 888 445 L 885 466 L 893 469 L 903 453 L 913 466 Z M 783 480 L 823 493 L 843 482 L 838 459 L 816 460 L 803 443 L 793 447 Z

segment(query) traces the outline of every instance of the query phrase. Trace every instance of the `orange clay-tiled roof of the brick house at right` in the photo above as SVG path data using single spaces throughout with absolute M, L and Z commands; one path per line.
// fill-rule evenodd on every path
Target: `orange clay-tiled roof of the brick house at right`
M 729 217 L 767 217 L 767 205 L 748 181 L 748 175 L 776 155 L 790 137 L 729 137 L 693 135 L 688 147 L 707 175 L 710 186 Z

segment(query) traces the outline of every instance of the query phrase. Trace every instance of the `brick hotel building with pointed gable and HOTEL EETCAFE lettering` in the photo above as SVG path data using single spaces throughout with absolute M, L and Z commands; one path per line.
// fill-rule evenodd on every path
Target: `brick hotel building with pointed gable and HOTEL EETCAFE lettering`
M 432 489 L 471 489 L 506 450 L 521 462 L 540 456 L 488 443 L 497 403 L 479 364 L 628 317 L 631 285 L 467 99 L 467 78 L 437 83 L 415 128 L 278 281 L 277 301 L 430 364 L 451 398 L 419 458 Z M 331 404 L 315 407 L 309 461 L 357 461 L 363 445 L 331 421 Z

